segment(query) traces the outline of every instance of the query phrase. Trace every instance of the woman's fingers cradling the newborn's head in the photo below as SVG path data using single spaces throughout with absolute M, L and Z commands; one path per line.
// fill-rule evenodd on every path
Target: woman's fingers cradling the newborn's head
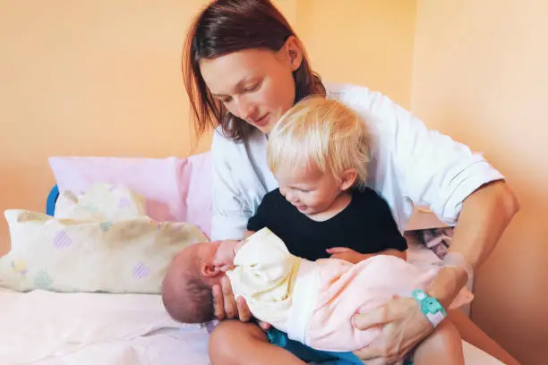
M 222 276 L 220 285 L 213 285 L 212 291 L 213 308 L 215 310 L 215 317 L 218 320 L 234 318 L 238 318 L 242 322 L 249 322 L 251 320 L 252 314 L 244 297 L 240 296 L 236 299 L 234 298 L 228 276 Z M 270 328 L 270 324 L 262 321 L 259 322 L 259 326 L 263 330 Z

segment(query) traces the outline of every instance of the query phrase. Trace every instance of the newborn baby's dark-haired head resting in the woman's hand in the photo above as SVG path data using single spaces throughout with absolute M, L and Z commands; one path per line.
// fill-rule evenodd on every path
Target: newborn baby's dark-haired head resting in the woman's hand
M 182 323 L 214 318 L 211 286 L 224 275 L 213 265 L 218 242 L 192 244 L 176 255 L 162 284 L 167 313 Z

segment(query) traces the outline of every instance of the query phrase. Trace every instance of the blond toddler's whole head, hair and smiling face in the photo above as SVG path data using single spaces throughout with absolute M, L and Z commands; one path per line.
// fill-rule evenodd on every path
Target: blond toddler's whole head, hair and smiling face
M 305 98 L 269 134 L 268 163 L 286 199 L 312 215 L 341 191 L 363 189 L 370 160 L 364 121 L 338 101 Z

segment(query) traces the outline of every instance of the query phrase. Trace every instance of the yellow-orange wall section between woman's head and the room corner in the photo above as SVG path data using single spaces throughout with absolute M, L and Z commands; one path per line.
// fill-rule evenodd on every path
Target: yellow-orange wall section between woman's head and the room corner
M 296 31 L 324 81 L 410 107 L 415 11 L 415 0 L 297 0 Z

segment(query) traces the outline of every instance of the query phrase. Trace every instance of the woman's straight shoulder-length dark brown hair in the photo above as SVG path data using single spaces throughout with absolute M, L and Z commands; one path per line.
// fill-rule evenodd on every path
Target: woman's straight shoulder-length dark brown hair
M 214 99 L 201 77 L 202 59 L 250 48 L 278 51 L 295 31 L 269 0 L 216 0 L 194 19 L 184 45 L 183 76 L 190 98 L 194 130 L 198 137 L 219 124 L 227 138 L 242 141 L 253 126 L 231 115 Z M 293 72 L 295 102 L 313 94 L 325 94 L 320 76 L 303 62 Z

